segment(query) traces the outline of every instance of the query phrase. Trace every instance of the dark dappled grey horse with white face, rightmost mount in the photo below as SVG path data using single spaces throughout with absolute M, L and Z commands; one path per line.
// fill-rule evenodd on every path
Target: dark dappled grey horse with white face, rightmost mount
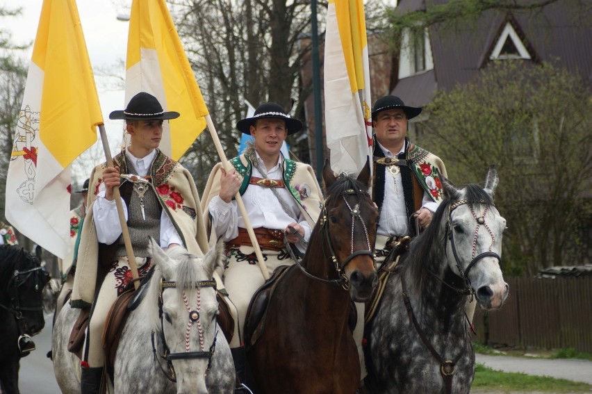
M 493 206 L 498 174 L 485 188 L 456 188 L 390 275 L 368 325 L 365 385 L 370 393 L 468 393 L 475 376 L 465 304 L 497 309 L 508 294 L 500 270 L 506 220 Z M 397 272 L 398 271 L 398 272 Z

